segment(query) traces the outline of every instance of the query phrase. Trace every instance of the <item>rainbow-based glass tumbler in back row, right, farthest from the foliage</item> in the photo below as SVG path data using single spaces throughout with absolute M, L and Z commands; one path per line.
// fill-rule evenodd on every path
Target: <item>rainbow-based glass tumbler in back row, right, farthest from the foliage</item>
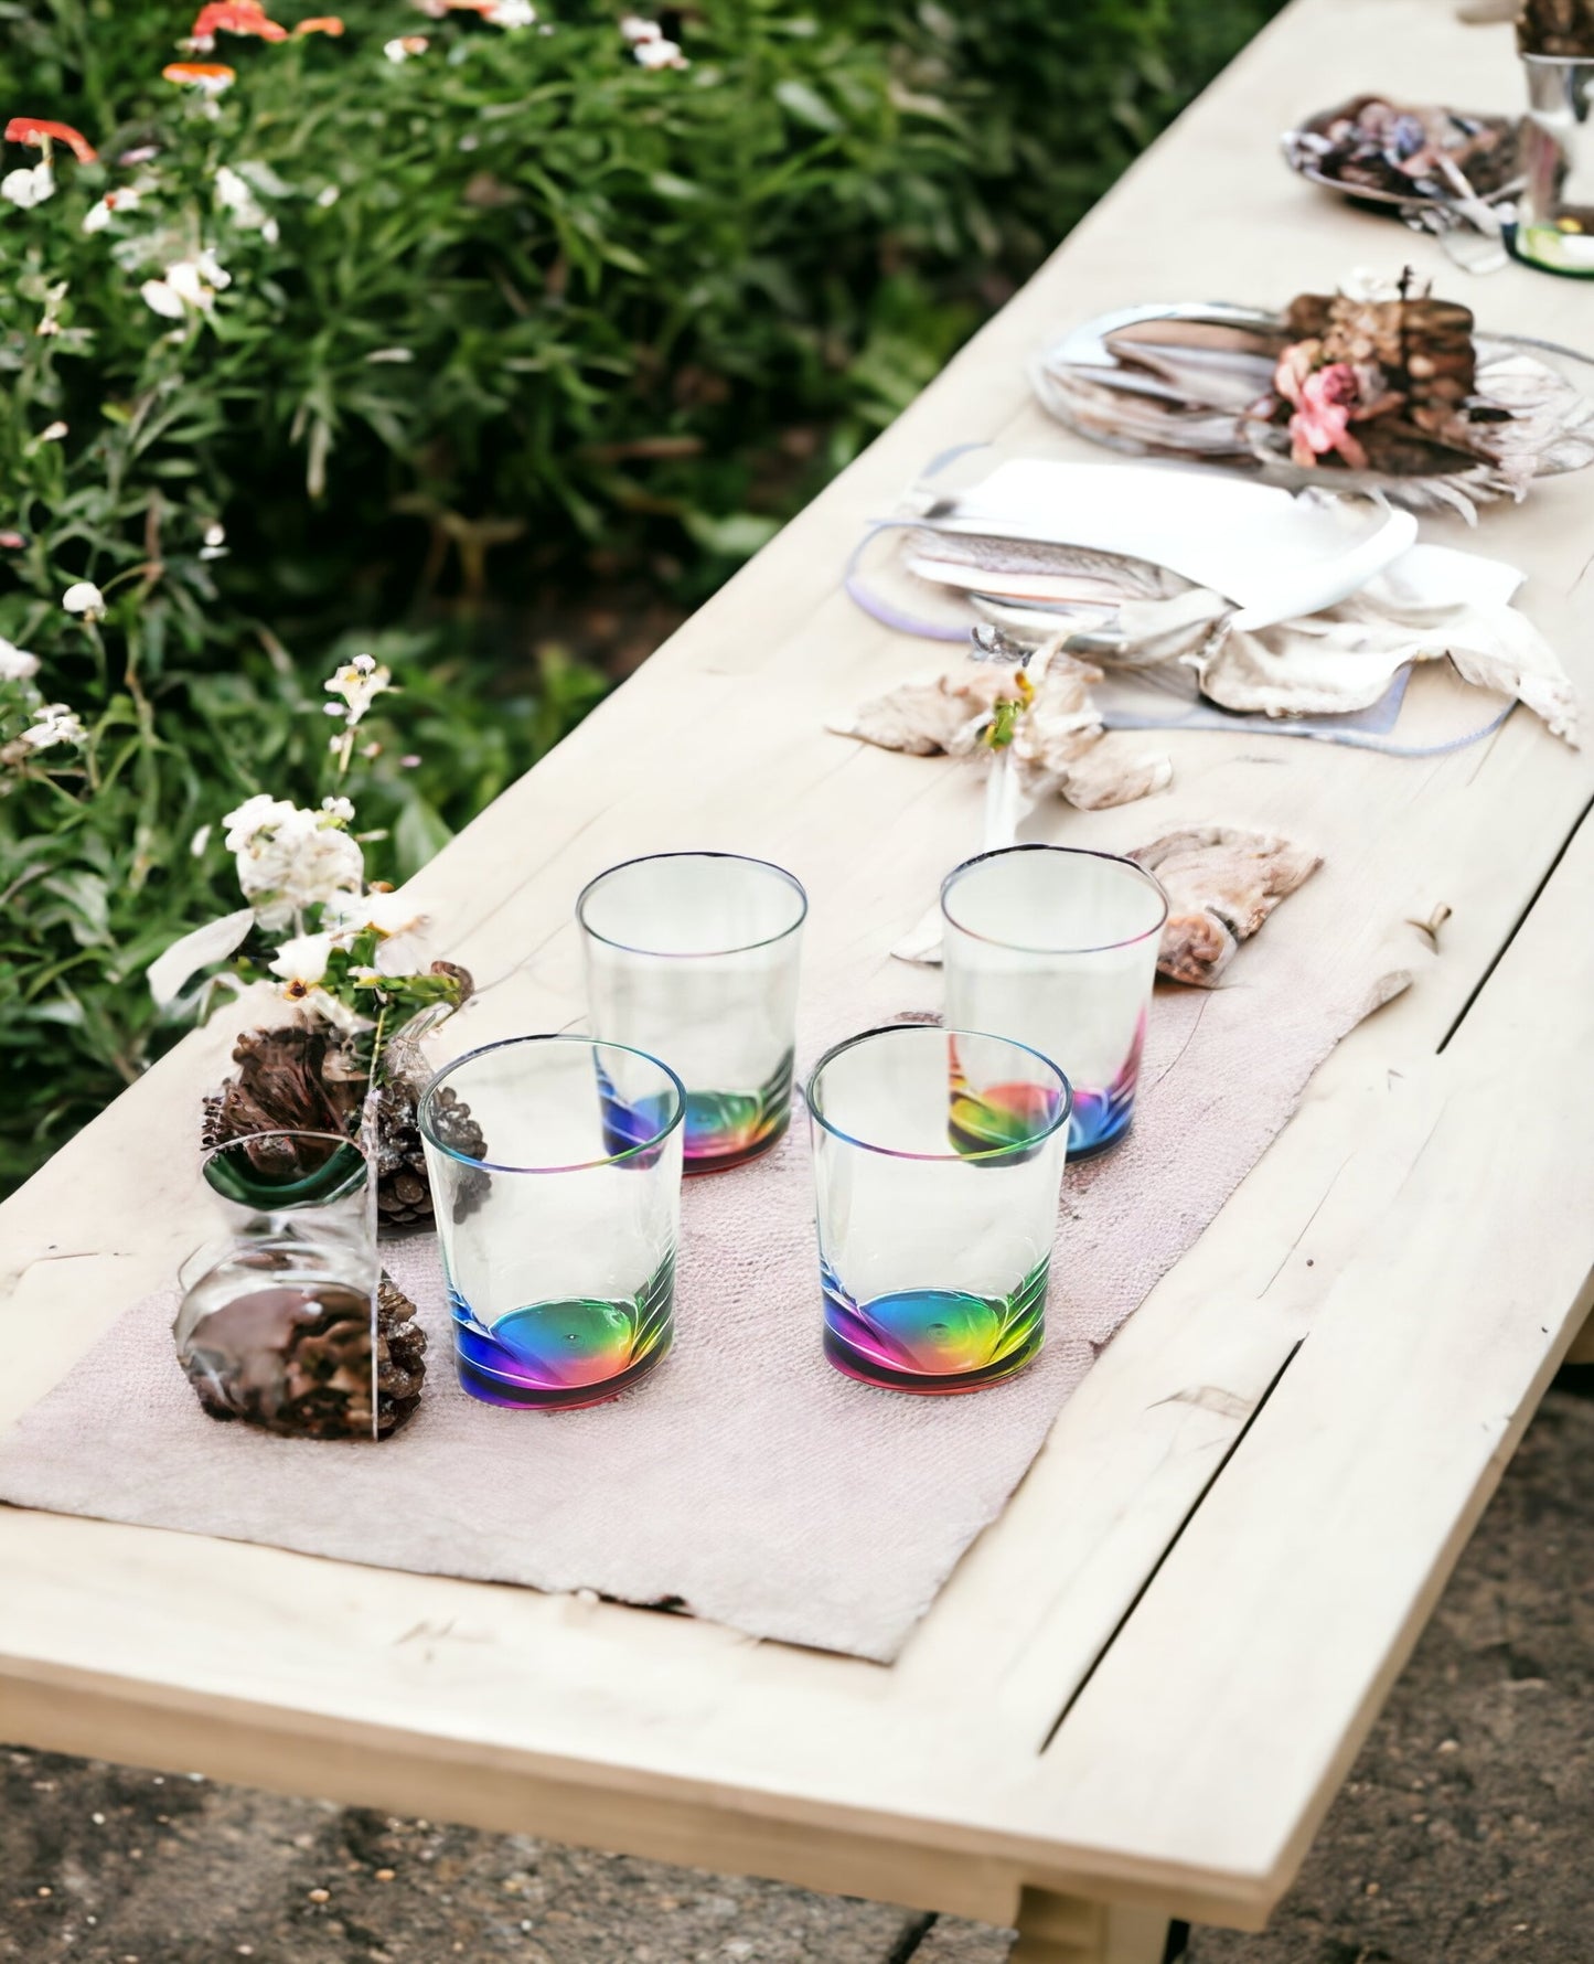
M 940 888 L 946 1021 L 1054 1059 L 1074 1086 L 1072 1159 L 1135 1116 L 1168 896 L 1135 860 L 1072 846 L 982 852 Z

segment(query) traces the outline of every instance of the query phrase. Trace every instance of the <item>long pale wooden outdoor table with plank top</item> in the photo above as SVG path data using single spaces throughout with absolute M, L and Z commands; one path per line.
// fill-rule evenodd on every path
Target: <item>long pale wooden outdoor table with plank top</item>
M 506 1027 L 577 1009 L 579 884 L 724 843 L 803 874 L 815 968 L 876 958 L 978 839 L 980 788 L 823 723 L 934 652 L 862 619 L 842 556 L 934 452 L 1084 454 L 1025 357 L 1105 306 L 1282 302 L 1437 273 L 1488 324 L 1594 344 L 1588 291 L 1468 281 L 1292 179 L 1278 132 L 1366 84 L 1512 106 L 1504 27 L 1441 0 L 1296 0 L 913 409 L 418 882 Z M 1457 524 L 1427 526 L 1459 540 Z M 1594 485 L 1482 542 L 1594 672 Z M 1413 683 L 1415 685 L 1415 683 Z M 1329 848 L 1415 986 L 1064 1408 L 891 1667 L 579 1597 L 0 1512 L 0 1736 L 1017 1921 L 1019 1958 L 1156 1964 L 1168 1915 L 1258 1929 L 1588 1310 L 1594 762 L 1517 713 L 1406 760 L 1174 738 L 1176 786 L 1050 837 L 1178 823 Z M 1437 955 L 1421 929 L 1451 917 Z M 1335 960 L 1329 937 L 1325 960 Z M 214 1031 L 4 1210 L 0 1422 L 192 1241 L 177 1194 Z

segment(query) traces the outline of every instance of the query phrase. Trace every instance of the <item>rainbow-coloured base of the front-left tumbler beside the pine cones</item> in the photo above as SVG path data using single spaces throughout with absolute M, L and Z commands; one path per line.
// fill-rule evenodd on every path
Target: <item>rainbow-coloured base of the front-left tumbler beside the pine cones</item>
M 457 1290 L 453 1363 L 459 1385 L 485 1404 L 569 1412 L 605 1404 L 669 1355 L 675 1263 L 667 1259 L 634 1300 L 561 1296 L 528 1302 L 481 1324 Z

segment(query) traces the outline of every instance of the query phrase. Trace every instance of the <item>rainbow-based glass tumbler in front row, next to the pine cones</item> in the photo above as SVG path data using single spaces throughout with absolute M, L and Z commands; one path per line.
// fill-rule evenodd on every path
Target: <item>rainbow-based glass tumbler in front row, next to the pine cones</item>
M 487 1139 L 481 1159 L 448 1143 L 455 1100 Z M 683 1118 L 673 1070 L 591 1037 L 510 1037 L 432 1078 L 420 1137 L 471 1396 L 601 1404 L 664 1361 Z

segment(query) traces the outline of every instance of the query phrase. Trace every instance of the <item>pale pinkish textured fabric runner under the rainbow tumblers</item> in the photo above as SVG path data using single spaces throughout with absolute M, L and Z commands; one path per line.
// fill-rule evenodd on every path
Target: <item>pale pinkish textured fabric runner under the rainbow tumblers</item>
M 0 1438 L 0 1500 L 267 1542 L 418 1573 L 595 1589 L 891 1660 L 999 1512 L 1093 1357 L 1284 1125 L 1333 1045 L 1404 976 L 1323 962 L 1286 901 L 1215 992 L 1160 988 L 1129 1141 L 1070 1169 L 1046 1347 L 978 1396 L 911 1398 L 821 1353 L 807 1123 L 687 1180 L 675 1349 L 585 1412 L 512 1412 L 453 1381 L 436 1241 L 395 1281 L 432 1339 L 418 1414 L 381 1444 L 275 1440 L 206 1418 L 173 1351 L 175 1294 L 130 1308 Z M 819 1006 L 807 1053 L 936 1008 L 897 962 Z

